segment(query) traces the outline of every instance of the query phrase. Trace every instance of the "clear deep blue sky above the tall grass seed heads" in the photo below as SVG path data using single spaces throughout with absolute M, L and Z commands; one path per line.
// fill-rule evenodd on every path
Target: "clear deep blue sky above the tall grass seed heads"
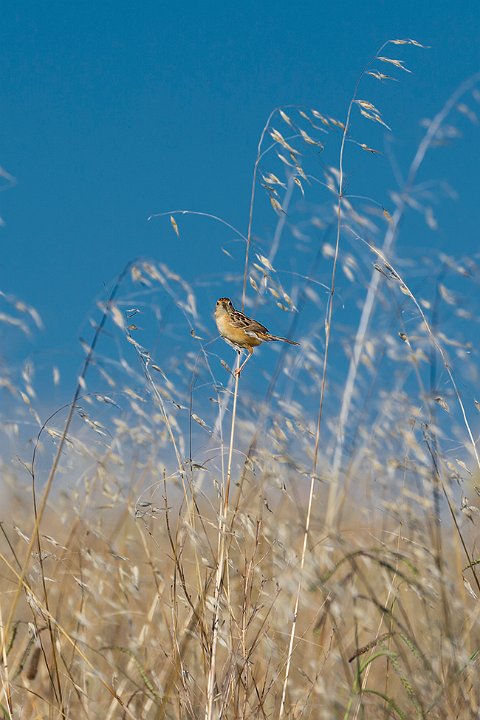
M 479 16 L 477 2 L 445 0 L 5 5 L 0 165 L 17 185 L 0 196 L 0 289 L 45 324 L 9 359 L 30 354 L 73 380 L 94 300 L 133 257 L 161 259 L 189 279 L 207 277 L 212 262 L 221 273 L 218 230 L 190 222 L 179 242 L 147 217 L 192 208 L 245 231 L 270 110 L 301 104 L 343 118 L 376 48 L 413 37 L 430 49 L 402 51 L 414 75 L 386 90 L 402 159 L 421 136 L 419 119 L 479 69 Z M 478 249 L 478 158 L 463 147 L 445 162 L 439 176 L 471 218 L 452 251 Z M 274 222 L 260 216 L 256 231 Z M 204 316 L 211 323 L 210 309 Z

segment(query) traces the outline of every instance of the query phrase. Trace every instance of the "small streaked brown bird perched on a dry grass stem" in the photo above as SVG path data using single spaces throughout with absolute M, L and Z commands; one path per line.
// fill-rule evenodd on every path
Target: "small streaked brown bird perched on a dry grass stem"
M 290 345 L 300 345 L 294 340 L 281 338 L 278 335 L 271 335 L 264 325 L 244 315 L 240 310 L 235 310 L 229 298 L 219 298 L 215 308 L 215 322 L 218 332 L 229 345 L 241 352 L 248 350 L 247 359 L 235 370 L 235 375 L 240 375 L 243 368 L 253 355 L 253 348 L 261 345 L 262 342 L 281 340 Z

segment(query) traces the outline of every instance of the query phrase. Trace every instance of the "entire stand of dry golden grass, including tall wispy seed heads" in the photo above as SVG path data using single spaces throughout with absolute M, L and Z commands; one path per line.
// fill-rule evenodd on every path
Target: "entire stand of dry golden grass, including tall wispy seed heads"
M 408 213 L 435 224 L 418 173 L 472 119 L 479 78 L 424 128 L 390 209 L 349 196 L 349 153 L 368 167 L 361 130 L 386 125 L 364 83 L 403 75 L 401 45 L 417 43 L 377 52 L 344 119 L 282 108 L 265 125 L 228 282 L 301 343 L 275 348 L 273 373 L 265 348 L 236 379 L 198 286 L 154 260 L 102 298 L 63 407 L 29 363 L 1 368 L 3 718 L 480 716 L 480 258 L 396 253 Z M 324 146 L 336 163 L 314 177 Z M 293 193 L 319 203 L 313 248 Z M 225 223 L 158 221 L 181 236 L 186 215 Z M 310 270 L 287 286 L 277 261 L 299 245 Z M 9 333 L 39 325 L 2 300 Z

